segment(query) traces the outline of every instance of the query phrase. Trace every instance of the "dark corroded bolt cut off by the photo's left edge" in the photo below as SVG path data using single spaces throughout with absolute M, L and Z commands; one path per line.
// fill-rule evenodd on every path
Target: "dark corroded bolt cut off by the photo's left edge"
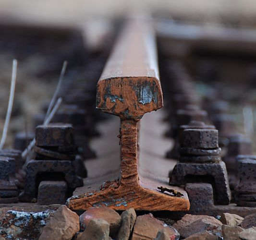
M 0 156 L 0 203 L 17 203 L 14 158 Z

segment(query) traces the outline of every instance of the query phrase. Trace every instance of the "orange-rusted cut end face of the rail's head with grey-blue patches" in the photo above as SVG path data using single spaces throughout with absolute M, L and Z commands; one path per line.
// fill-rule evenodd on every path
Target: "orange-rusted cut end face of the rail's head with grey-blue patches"
M 163 106 L 160 83 L 155 77 L 102 79 L 97 86 L 97 108 L 121 119 L 139 120 Z

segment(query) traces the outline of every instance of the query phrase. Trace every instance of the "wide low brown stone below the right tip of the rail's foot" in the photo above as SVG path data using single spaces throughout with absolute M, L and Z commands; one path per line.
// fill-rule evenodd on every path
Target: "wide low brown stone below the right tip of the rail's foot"
M 221 225 L 222 223 L 213 216 L 186 214 L 181 220 L 173 224 L 173 228 L 177 229 L 181 237 L 187 238 L 204 230 L 220 235 Z

